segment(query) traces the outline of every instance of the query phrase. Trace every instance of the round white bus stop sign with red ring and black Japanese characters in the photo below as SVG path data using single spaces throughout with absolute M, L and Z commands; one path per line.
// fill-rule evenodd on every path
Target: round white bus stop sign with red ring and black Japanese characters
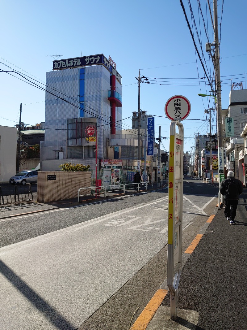
M 165 105 L 165 114 L 170 120 L 184 120 L 190 114 L 190 101 L 182 95 L 170 97 Z

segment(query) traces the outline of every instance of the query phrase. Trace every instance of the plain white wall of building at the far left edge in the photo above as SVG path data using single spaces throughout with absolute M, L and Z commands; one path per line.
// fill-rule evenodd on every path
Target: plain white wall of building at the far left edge
M 0 125 L 0 182 L 16 174 L 17 129 Z

